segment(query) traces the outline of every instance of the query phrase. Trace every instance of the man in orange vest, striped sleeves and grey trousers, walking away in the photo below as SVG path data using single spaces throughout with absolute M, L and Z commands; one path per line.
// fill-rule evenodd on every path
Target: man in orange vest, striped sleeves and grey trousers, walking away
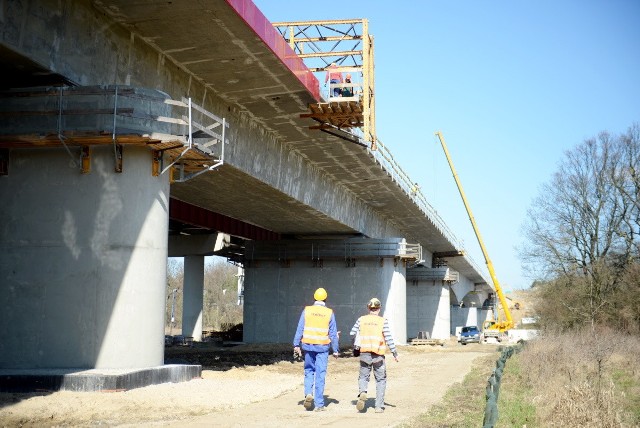
M 387 388 L 387 366 L 384 354 L 387 347 L 398 361 L 398 351 L 393 342 L 393 336 L 386 318 L 380 316 L 382 304 L 376 297 L 367 303 L 369 314 L 358 318 L 351 332 L 353 337 L 360 340 L 360 373 L 358 376 L 358 401 L 356 409 L 364 411 L 367 401 L 367 387 L 371 371 L 376 379 L 376 404 L 375 412 L 384 412 L 384 394 Z M 386 344 L 386 346 L 385 346 Z

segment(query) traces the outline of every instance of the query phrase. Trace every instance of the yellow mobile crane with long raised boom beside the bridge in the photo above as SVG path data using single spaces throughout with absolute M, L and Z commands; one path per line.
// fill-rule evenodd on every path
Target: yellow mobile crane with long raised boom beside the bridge
M 491 280 L 493 281 L 493 287 L 496 290 L 496 294 L 498 295 L 498 299 L 500 301 L 500 305 L 502 306 L 502 310 L 504 311 L 504 319 L 502 319 L 500 311 L 497 312 L 497 320 L 485 321 L 482 326 L 482 334 L 484 338 L 494 337 L 498 341 L 502 339 L 502 337 L 506 334 L 506 331 L 513 328 L 513 318 L 511 318 L 511 312 L 509 311 L 509 306 L 507 305 L 507 301 L 505 299 L 504 294 L 502 293 L 502 288 L 500 287 L 500 283 L 498 282 L 498 278 L 496 278 L 496 273 L 493 270 L 493 263 L 491 263 L 491 259 L 487 254 L 487 249 L 482 242 L 482 237 L 480 236 L 480 231 L 478 230 L 478 226 L 476 225 L 476 221 L 473 218 L 473 214 L 471 213 L 471 208 L 469 208 L 469 204 L 467 203 L 467 198 L 464 195 L 464 190 L 462 190 L 462 184 L 460 184 L 460 180 L 458 179 L 458 174 L 456 173 L 455 168 L 453 167 L 453 162 L 451 162 L 451 156 L 449 156 L 449 150 L 447 149 L 447 145 L 444 142 L 444 137 L 440 131 L 436 132 L 438 139 L 440 140 L 440 144 L 442 145 L 442 149 L 444 150 L 444 154 L 447 157 L 447 162 L 449 162 L 449 167 L 451 168 L 451 173 L 453 174 L 453 178 L 456 181 L 456 185 L 458 186 L 458 191 L 460 192 L 460 196 L 462 196 L 462 202 L 464 202 L 464 207 L 467 210 L 467 214 L 469 215 L 469 220 L 471 220 L 471 225 L 473 226 L 473 231 L 476 234 L 476 238 L 478 238 L 478 243 L 480 244 L 480 248 L 482 249 L 482 255 L 484 256 L 484 261 L 487 264 L 487 269 L 489 269 L 489 275 L 491 275 Z

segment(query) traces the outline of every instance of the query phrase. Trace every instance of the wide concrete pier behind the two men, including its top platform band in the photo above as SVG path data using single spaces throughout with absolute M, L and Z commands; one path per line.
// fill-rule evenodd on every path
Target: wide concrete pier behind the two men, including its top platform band
M 406 243 L 403 239 L 254 241 L 244 277 L 244 341 L 290 343 L 302 309 L 324 287 L 340 342 L 378 297 L 396 344 L 407 342 Z

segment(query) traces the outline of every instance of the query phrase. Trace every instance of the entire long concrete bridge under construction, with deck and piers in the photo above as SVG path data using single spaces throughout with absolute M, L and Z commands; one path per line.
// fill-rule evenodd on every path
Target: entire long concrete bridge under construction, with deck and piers
M 324 116 L 318 70 L 251 1 L 3 6 L 0 386 L 192 376 L 163 364 L 168 256 L 195 340 L 208 255 L 244 268 L 249 343 L 289 342 L 319 286 L 342 331 L 379 297 L 400 344 L 486 316 L 483 271 L 374 112 L 364 135 Z

